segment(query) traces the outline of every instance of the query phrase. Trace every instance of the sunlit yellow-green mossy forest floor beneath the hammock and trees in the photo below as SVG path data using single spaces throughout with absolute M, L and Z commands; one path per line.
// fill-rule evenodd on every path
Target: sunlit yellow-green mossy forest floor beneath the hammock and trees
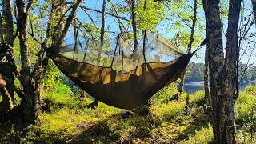
M 211 143 L 213 130 L 203 94 L 190 95 L 188 114 L 186 94 L 178 101 L 142 106 L 128 118 L 122 118 L 121 109 L 101 102 L 95 110 L 81 105 L 55 106 L 25 129 L 10 123 L 0 125 L 0 143 Z M 250 114 L 255 102 L 250 91 L 238 98 L 238 143 L 254 143 Z

